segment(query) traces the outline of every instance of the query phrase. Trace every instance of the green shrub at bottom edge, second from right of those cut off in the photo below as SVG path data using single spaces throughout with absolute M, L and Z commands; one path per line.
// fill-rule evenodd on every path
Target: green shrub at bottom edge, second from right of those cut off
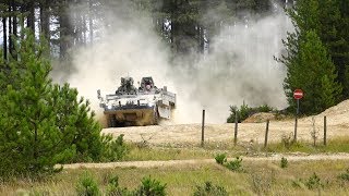
M 141 186 L 135 191 L 133 195 L 137 196 L 164 196 L 166 184 L 161 184 L 151 177 L 143 177 Z

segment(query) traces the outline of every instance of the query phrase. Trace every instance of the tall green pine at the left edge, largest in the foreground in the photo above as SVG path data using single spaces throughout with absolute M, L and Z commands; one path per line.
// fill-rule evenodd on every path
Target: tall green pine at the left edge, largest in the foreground
M 74 137 L 72 126 L 57 125 L 60 117 L 71 114 L 57 113 L 51 105 L 57 95 L 48 77 L 51 66 L 45 40 L 37 42 L 26 32 L 17 51 L 21 61 L 10 61 L 0 75 L 0 157 L 4 158 L 0 166 L 9 166 L 1 167 L 0 174 L 52 173 L 56 163 L 75 154 L 75 146 L 67 143 Z

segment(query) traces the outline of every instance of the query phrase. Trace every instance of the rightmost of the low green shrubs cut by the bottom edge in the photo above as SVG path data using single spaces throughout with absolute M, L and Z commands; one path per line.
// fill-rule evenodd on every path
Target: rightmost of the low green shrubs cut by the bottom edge
M 194 196 L 227 196 L 229 195 L 225 187 L 205 182 L 203 186 L 196 186 Z

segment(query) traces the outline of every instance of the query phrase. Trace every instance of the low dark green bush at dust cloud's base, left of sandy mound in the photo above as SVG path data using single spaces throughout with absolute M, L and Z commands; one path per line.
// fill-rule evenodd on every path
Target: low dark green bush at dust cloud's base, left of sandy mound
M 260 107 L 252 108 L 246 103 L 242 103 L 240 109 L 237 106 L 230 106 L 230 115 L 227 119 L 227 123 L 233 123 L 236 121 L 236 114 L 238 114 L 238 122 L 242 122 L 254 113 L 258 112 L 272 112 L 275 111 L 274 108 L 268 105 L 262 105 Z

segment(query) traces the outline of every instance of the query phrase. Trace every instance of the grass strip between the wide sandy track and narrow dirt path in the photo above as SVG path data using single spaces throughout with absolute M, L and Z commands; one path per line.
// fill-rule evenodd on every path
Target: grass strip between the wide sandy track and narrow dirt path
M 266 150 L 268 152 L 304 152 L 304 154 L 322 154 L 322 152 L 349 152 L 349 137 L 334 138 L 324 146 L 317 142 L 313 146 L 311 142 L 298 142 L 294 144 L 272 143 L 264 149 L 263 144 L 239 144 L 233 146 L 232 142 L 227 143 L 205 143 L 204 148 L 197 146 L 171 147 L 171 146 L 147 146 L 137 147 L 129 144 L 130 154 L 125 157 L 127 161 L 143 160 L 183 160 L 183 159 L 207 159 L 213 158 L 217 154 L 225 152 L 227 157 L 236 157 L 240 155 L 258 155 Z

